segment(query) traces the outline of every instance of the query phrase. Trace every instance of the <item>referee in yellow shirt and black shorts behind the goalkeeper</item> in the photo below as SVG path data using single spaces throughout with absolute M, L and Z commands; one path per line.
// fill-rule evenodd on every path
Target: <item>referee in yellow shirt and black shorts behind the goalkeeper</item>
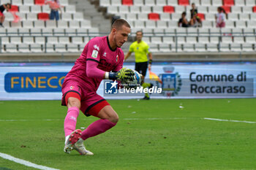
M 144 78 L 146 77 L 147 69 L 151 71 L 151 63 L 152 63 L 152 53 L 150 52 L 149 46 L 146 42 L 142 40 L 143 32 L 136 32 L 136 41 L 129 46 L 129 52 L 124 57 L 124 61 L 129 58 L 129 56 L 134 52 L 135 53 L 135 70 L 142 74 L 141 83 L 143 88 L 152 88 L 151 83 L 144 82 Z M 148 57 L 147 57 L 148 55 Z M 148 61 L 149 58 L 149 61 Z M 144 100 L 149 100 L 148 93 L 145 93 L 143 98 Z

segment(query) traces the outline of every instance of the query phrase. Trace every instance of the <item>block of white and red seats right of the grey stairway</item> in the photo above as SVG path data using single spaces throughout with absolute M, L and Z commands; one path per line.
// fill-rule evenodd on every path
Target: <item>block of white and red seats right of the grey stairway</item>
M 181 12 L 187 12 L 187 17 L 190 16 L 192 3 L 197 6 L 203 26 L 178 28 Z M 99 4 L 106 7 L 109 14 L 128 20 L 132 29 L 142 30 L 146 42 L 157 44 L 154 46 L 157 47 L 156 51 L 169 52 L 174 47 L 178 52 L 178 45 L 181 45 L 184 52 L 238 52 L 243 50 L 244 39 L 250 44 L 245 45 L 246 51 L 255 50 L 254 0 L 99 0 Z M 227 12 L 226 26 L 222 29 L 216 28 L 217 7 L 223 7 Z M 168 31 L 170 28 L 173 30 Z M 174 41 L 167 39 L 168 36 Z

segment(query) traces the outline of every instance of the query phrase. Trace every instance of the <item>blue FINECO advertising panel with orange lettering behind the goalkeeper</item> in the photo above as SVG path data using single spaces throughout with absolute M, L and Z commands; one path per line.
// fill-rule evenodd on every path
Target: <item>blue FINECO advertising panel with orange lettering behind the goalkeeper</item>
M 11 72 L 4 76 L 4 90 L 8 93 L 61 92 L 66 75 L 67 72 Z

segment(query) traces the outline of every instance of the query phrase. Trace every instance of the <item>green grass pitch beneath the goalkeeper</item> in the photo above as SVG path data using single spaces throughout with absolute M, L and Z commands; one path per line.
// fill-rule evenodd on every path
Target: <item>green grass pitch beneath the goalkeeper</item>
M 88 139 L 94 155 L 81 156 L 63 152 L 60 101 L 0 101 L 0 152 L 63 170 L 256 169 L 256 123 L 203 119 L 256 122 L 256 98 L 109 102 L 118 124 Z M 77 128 L 94 120 L 80 112 Z M 0 169 L 33 168 L 0 158 Z

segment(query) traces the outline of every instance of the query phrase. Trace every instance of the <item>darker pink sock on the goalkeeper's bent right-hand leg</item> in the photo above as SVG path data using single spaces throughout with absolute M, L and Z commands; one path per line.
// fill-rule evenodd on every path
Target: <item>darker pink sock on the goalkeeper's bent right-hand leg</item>
M 94 123 L 91 123 L 91 125 L 89 125 L 86 128 L 86 130 L 84 130 L 82 132 L 81 138 L 83 140 L 86 140 L 89 137 L 96 136 L 98 134 L 102 134 L 103 132 L 108 131 L 108 129 L 112 128 L 115 125 L 116 125 L 116 123 L 112 123 L 108 119 L 97 120 Z

